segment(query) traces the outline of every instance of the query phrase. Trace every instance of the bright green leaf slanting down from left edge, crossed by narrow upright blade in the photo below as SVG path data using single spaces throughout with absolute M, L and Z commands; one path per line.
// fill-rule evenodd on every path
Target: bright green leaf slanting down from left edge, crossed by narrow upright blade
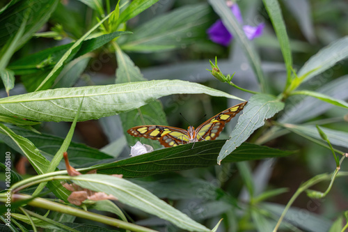
M 49 167 L 49 161 L 40 154 L 38 148 L 35 148 L 29 139 L 15 134 L 13 130 L 10 130 L 10 128 L 1 123 L 0 132 L 1 139 L 6 141 L 8 146 L 25 155 L 39 175 L 45 173 L 47 167 Z M 49 187 L 49 189 L 52 190 L 57 197 L 67 201 L 70 192 L 66 190 L 58 180 L 50 181 L 47 183 L 47 187 Z

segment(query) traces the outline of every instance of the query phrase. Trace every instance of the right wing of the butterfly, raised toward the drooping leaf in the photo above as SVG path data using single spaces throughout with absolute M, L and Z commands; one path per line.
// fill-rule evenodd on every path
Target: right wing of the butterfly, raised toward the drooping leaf
M 230 107 L 222 111 L 221 113 L 216 114 L 216 116 L 209 118 L 199 127 L 197 127 L 196 134 L 198 141 L 216 139 L 219 136 L 220 132 L 223 130 L 223 127 L 225 127 L 226 123 L 234 118 L 239 113 L 239 111 L 244 108 L 246 103 L 248 102 L 242 102 L 238 105 Z

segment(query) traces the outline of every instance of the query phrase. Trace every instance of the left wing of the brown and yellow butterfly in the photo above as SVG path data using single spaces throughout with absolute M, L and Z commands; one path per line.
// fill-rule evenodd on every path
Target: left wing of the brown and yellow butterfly
M 187 130 L 166 125 L 139 125 L 127 130 L 134 137 L 158 140 L 166 148 L 189 143 Z

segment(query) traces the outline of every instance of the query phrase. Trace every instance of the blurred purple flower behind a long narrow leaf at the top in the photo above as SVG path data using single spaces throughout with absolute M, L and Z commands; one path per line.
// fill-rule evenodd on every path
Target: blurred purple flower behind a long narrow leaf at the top
M 238 22 L 242 24 L 243 23 L 242 14 L 240 13 L 238 5 L 234 3 L 232 4 L 230 8 L 233 15 L 235 15 L 235 17 L 237 18 Z M 248 40 L 252 40 L 253 38 L 261 36 L 263 28 L 264 28 L 263 23 L 258 24 L 258 26 L 250 26 L 250 25 L 243 26 L 244 33 L 246 35 L 246 38 L 248 38 Z M 226 47 L 230 45 L 230 41 L 233 38 L 233 36 L 226 29 L 226 26 L 223 25 L 223 22 L 221 20 L 217 20 L 214 24 L 212 24 L 212 26 L 210 26 L 209 29 L 207 29 L 207 34 L 210 40 Z

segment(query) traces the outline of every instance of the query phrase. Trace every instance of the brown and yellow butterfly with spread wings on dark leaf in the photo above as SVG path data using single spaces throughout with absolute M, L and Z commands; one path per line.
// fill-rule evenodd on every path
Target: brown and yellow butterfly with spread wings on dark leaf
M 196 141 L 214 140 L 219 136 L 226 123 L 235 117 L 246 103 L 242 102 L 225 109 L 199 125 L 196 130 L 191 125 L 187 130 L 166 125 L 139 125 L 130 128 L 127 130 L 127 133 L 134 137 L 158 140 L 166 148 L 180 144 L 195 143 Z

